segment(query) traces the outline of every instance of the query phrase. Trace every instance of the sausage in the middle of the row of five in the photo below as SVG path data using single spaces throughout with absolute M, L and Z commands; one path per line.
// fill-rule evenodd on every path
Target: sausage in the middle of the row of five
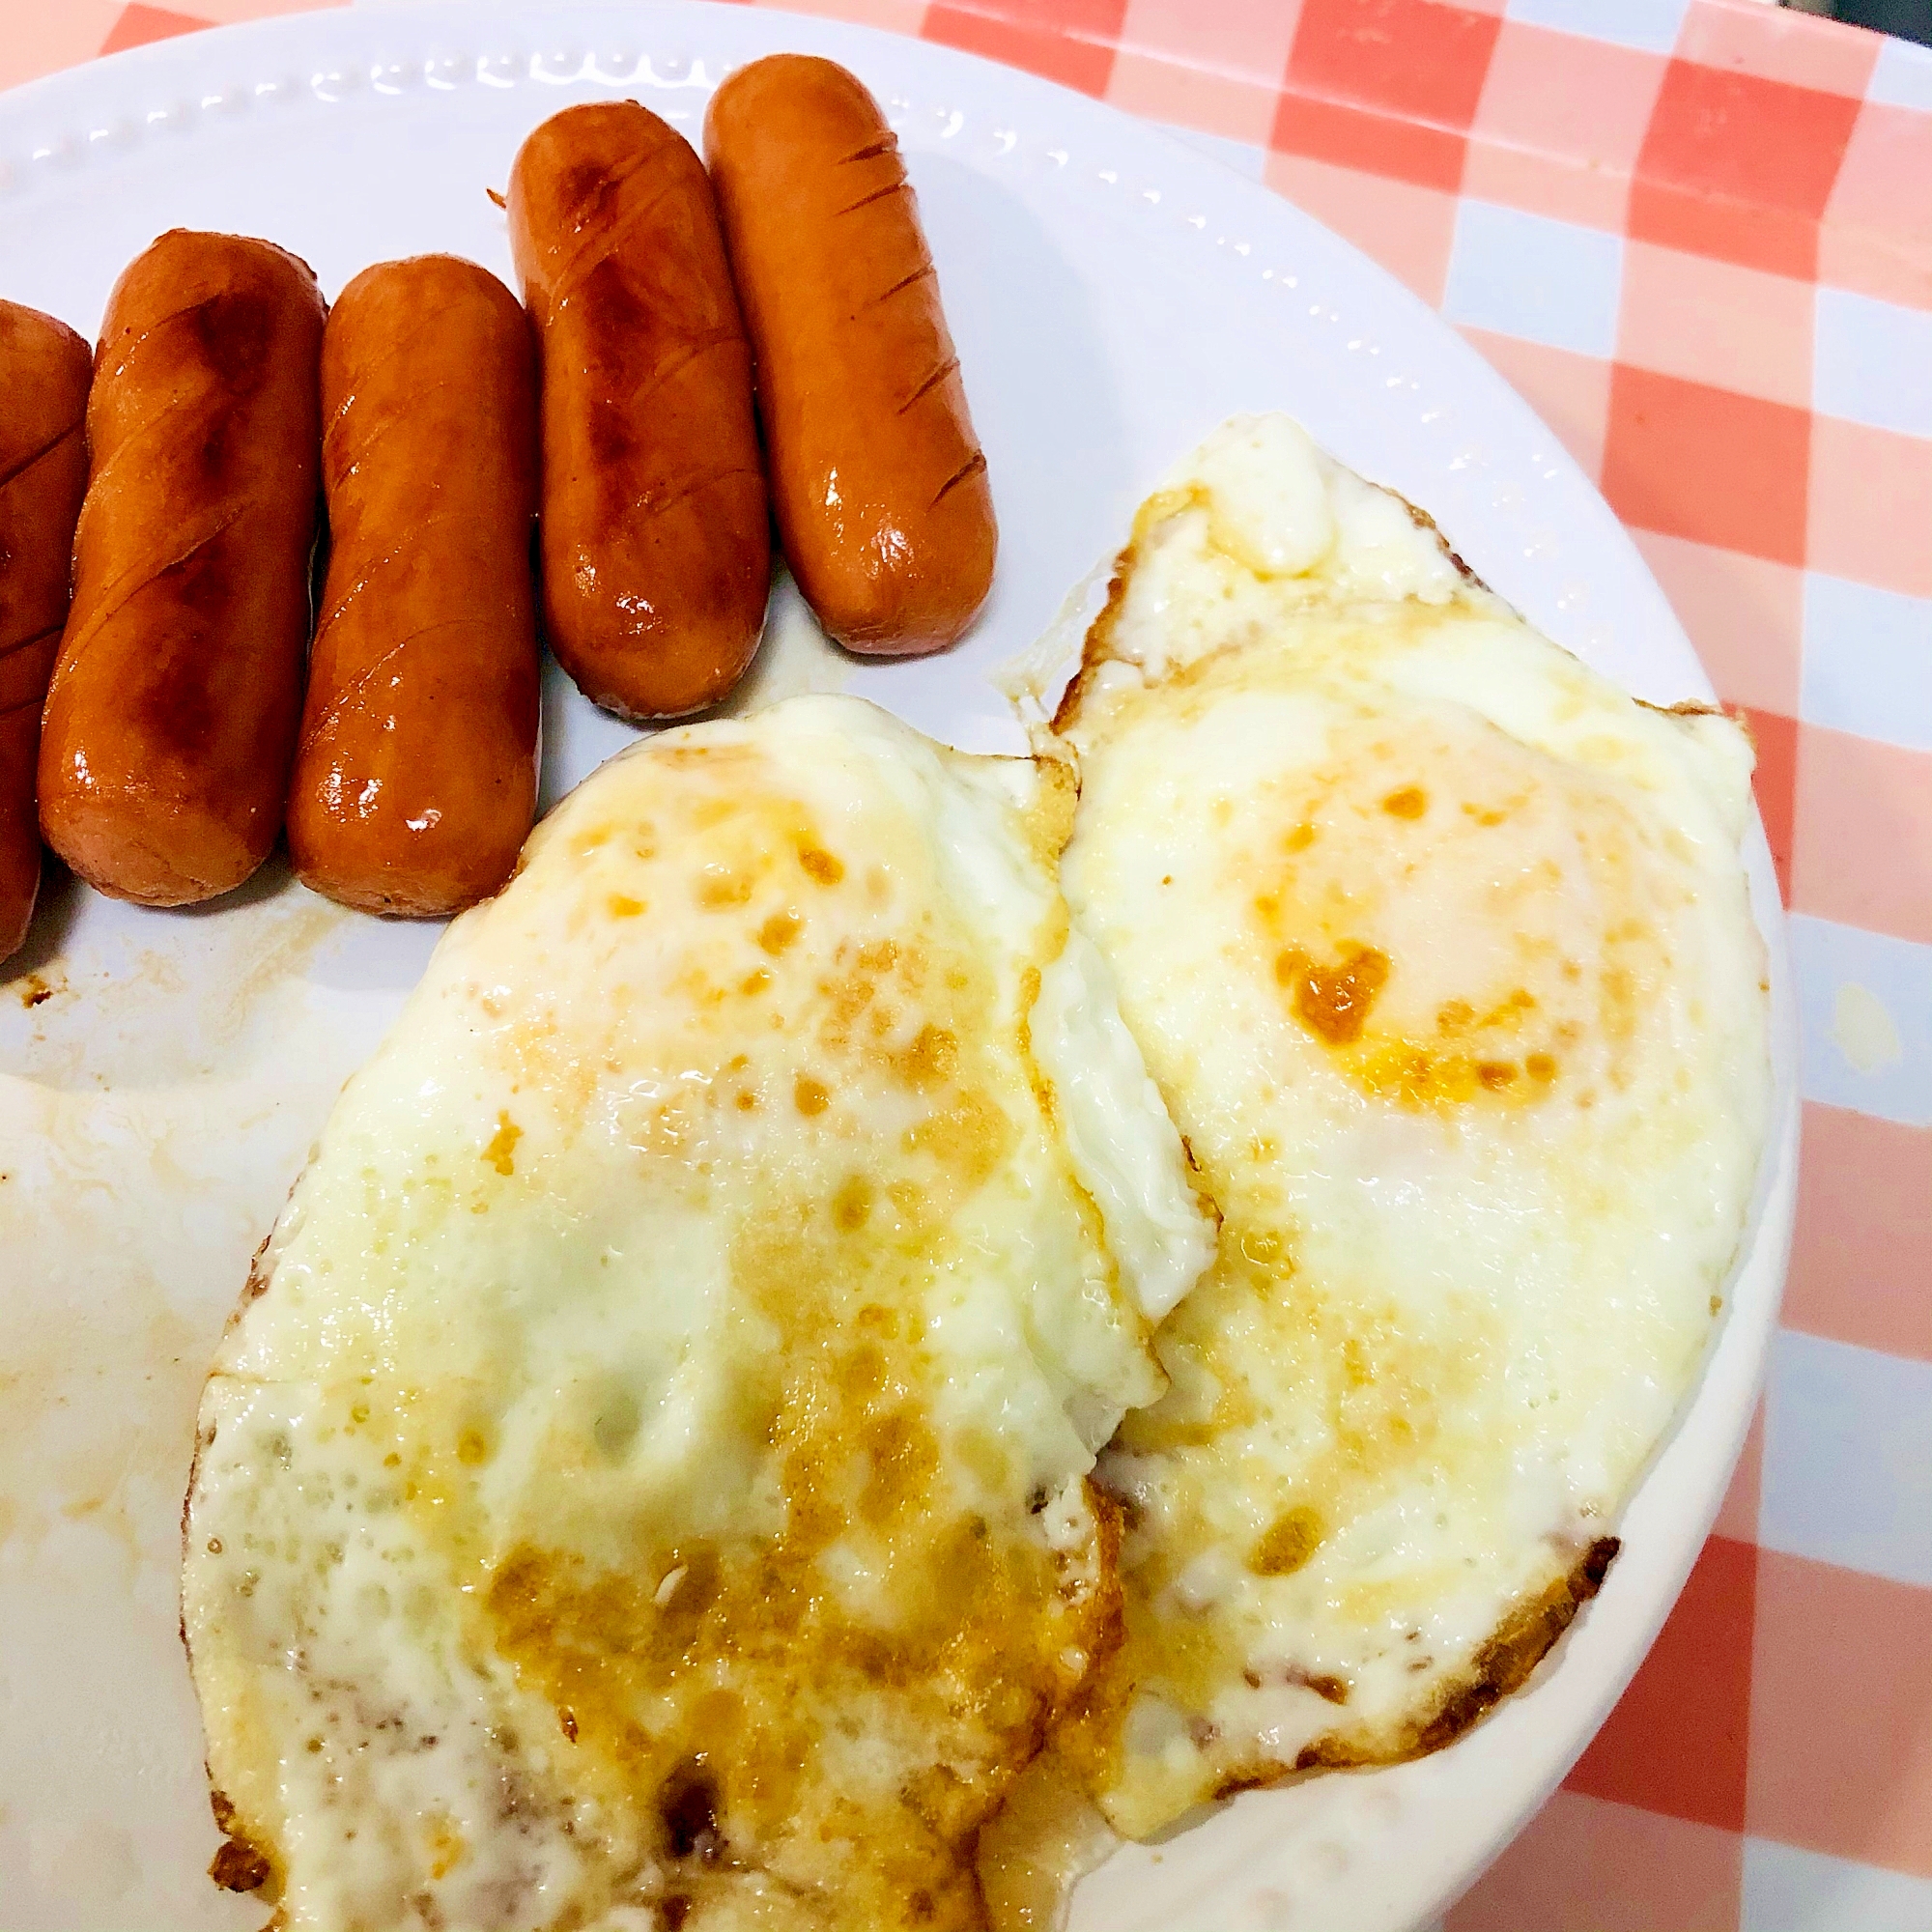
M 537 811 L 537 359 L 497 276 L 365 269 L 323 330 L 328 576 L 288 852 L 365 912 L 495 893 Z

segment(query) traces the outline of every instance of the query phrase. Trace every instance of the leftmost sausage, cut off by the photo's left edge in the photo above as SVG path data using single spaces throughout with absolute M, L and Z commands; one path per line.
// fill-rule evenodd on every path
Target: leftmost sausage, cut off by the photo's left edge
M 93 365 L 66 323 L 0 301 L 0 960 L 19 951 L 41 891 L 41 703 L 68 616 Z

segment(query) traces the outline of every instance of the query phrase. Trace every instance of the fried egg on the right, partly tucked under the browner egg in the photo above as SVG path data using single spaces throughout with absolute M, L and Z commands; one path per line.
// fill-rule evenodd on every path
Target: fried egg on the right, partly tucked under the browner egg
M 1063 1739 L 1146 1837 L 1451 1741 L 1602 1580 L 1764 1138 L 1752 753 L 1279 415 L 1142 508 L 1055 728 L 1063 889 L 1221 1213 Z

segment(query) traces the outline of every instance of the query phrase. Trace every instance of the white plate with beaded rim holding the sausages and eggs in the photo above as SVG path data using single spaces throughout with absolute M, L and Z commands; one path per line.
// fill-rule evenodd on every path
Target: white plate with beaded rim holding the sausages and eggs
M 199 33 L 0 99 L 0 292 L 95 330 L 172 226 L 270 236 L 325 292 L 371 261 L 508 278 L 522 135 L 638 95 L 696 133 L 757 54 L 846 62 L 910 155 L 1001 520 L 999 582 L 949 657 L 850 667 L 781 612 L 765 690 L 844 682 L 976 750 L 1018 736 L 987 672 L 1053 620 L 1150 483 L 1236 410 L 1293 410 L 1428 506 L 1544 630 L 1654 699 L 1708 696 L 1669 607 L 1555 439 L 1428 309 L 1275 195 L 1078 95 L 918 41 L 711 6 L 437 6 Z M 630 732 L 553 676 L 547 796 Z M 1704 1379 L 1625 1549 L 1532 1687 L 1455 1748 L 1254 1793 L 1078 1893 L 1074 1928 L 1395 1932 L 1474 1876 L 1644 1654 L 1723 1493 L 1776 1323 L 1793 1202 L 1779 1109 Z M 0 1886 L 10 1932 L 242 1928 L 176 1640 L 203 1366 L 311 1136 L 435 929 L 340 914 L 270 869 L 189 914 L 52 895 L 0 999 Z M 37 978 L 27 978 L 27 974 Z M 37 1005 L 25 1005 L 37 993 Z M 17 995 L 17 997 L 15 997 Z

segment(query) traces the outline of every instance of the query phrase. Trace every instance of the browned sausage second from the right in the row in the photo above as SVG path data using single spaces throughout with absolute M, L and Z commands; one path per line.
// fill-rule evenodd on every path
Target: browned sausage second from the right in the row
M 620 717 L 717 703 L 757 649 L 771 514 L 752 352 L 703 162 L 636 100 L 551 116 L 510 170 L 543 367 L 543 622 Z

